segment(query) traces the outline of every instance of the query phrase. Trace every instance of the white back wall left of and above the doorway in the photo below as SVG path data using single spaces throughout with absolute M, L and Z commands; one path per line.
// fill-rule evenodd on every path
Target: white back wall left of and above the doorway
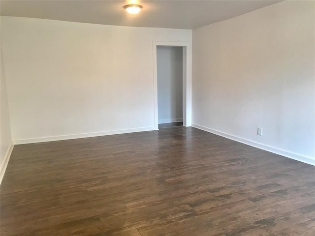
M 153 41 L 191 42 L 186 29 L 19 17 L 1 32 L 18 143 L 154 129 Z

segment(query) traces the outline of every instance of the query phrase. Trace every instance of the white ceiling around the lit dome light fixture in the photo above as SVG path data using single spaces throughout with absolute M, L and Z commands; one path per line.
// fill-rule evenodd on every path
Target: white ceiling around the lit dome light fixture
M 124 5 L 143 6 L 130 15 Z M 32 17 L 103 25 L 194 29 L 280 0 L 1 0 L 3 16 Z

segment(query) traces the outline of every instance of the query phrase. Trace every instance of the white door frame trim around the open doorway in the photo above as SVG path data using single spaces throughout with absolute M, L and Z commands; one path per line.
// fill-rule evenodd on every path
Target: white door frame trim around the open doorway
M 183 125 L 191 126 L 191 46 L 190 42 L 153 41 L 154 128 L 158 130 L 157 46 L 183 48 Z

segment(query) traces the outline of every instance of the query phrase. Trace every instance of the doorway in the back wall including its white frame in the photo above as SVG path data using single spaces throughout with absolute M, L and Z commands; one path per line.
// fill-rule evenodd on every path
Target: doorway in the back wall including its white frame
M 191 126 L 189 42 L 154 42 L 154 126 Z

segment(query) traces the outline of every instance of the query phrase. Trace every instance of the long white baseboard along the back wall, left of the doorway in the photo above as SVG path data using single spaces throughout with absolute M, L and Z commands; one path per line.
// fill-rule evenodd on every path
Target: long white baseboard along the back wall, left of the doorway
M 21 139 L 21 140 L 15 140 L 14 144 L 16 145 L 33 144 L 33 143 L 60 141 L 60 140 L 68 140 L 68 139 L 90 138 L 90 137 L 113 135 L 113 134 L 135 133 L 135 132 L 143 132 L 143 131 L 151 131 L 151 130 L 157 130 L 157 129 L 154 126 L 151 126 L 151 127 L 142 127 L 142 128 L 134 128 L 134 129 L 120 129 L 120 130 L 103 131 L 103 132 L 41 137 L 41 138 L 34 138 L 34 139 Z

